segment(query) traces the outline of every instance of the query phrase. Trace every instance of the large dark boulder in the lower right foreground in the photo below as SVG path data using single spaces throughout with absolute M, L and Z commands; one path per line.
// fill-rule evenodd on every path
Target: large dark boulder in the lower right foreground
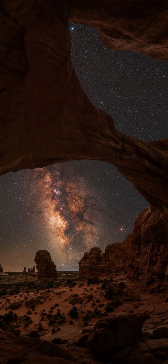
M 128 314 L 98 321 L 89 333 L 87 346 L 96 354 L 104 355 L 132 344 L 142 335 L 142 326 L 149 316 Z

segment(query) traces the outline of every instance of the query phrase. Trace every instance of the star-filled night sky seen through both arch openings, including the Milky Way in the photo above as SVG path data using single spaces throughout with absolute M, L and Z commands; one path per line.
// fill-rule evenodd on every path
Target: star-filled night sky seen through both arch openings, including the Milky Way
M 142 141 L 167 138 L 168 62 L 103 46 L 98 31 L 69 24 L 71 58 L 95 107 Z M 123 241 L 148 203 L 99 161 L 72 161 L 0 176 L 0 264 L 19 272 L 46 249 L 58 270 L 78 270 L 93 246 Z

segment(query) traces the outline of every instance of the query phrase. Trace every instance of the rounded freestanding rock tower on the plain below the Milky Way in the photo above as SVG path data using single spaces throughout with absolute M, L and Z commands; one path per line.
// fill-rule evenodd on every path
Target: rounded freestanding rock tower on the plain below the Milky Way
M 51 255 L 47 250 L 38 250 L 35 256 L 36 268 L 39 280 L 43 278 L 56 278 L 56 265 L 51 260 Z

